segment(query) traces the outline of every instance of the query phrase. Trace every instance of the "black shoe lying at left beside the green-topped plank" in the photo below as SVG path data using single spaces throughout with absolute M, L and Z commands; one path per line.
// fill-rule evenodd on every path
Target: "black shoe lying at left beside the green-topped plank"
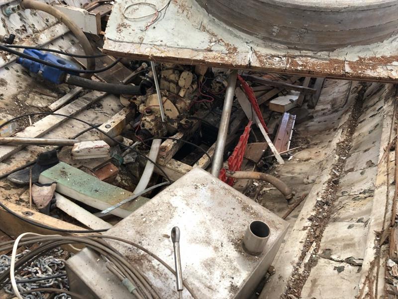
M 57 151 L 55 149 L 40 153 L 36 163 L 32 166 L 32 183 L 39 180 L 40 173 L 58 164 Z M 7 178 L 18 185 L 29 184 L 29 167 L 15 171 L 7 176 Z

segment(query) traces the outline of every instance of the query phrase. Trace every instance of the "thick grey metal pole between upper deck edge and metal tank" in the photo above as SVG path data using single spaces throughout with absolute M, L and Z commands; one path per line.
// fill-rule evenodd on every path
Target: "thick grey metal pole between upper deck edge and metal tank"
M 229 118 L 231 116 L 233 96 L 235 94 L 236 76 L 238 71 L 234 70 L 229 74 L 228 86 L 225 92 L 224 107 L 222 108 L 220 125 L 218 128 L 217 141 L 214 149 L 211 174 L 218 177 L 223 163 L 225 142 L 227 140 Z

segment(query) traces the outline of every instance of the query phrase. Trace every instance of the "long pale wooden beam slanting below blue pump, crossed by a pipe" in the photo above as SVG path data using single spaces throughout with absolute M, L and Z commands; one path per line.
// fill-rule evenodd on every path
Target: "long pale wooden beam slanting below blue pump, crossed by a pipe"
M 57 111 L 59 114 L 73 116 L 83 111 L 96 101 L 102 99 L 106 93 L 100 91 L 92 91 L 83 97 L 76 99 L 72 103 L 66 105 Z M 32 126 L 25 128 L 23 131 L 18 132 L 14 135 L 14 137 L 42 137 L 53 128 L 58 127 L 63 122 L 67 121 L 68 118 L 57 116 L 57 115 L 49 115 L 40 121 L 34 123 Z M 0 147 L 0 161 L 14 154 L 15 152 L 23 149 L 24 146 L 1 146 Z

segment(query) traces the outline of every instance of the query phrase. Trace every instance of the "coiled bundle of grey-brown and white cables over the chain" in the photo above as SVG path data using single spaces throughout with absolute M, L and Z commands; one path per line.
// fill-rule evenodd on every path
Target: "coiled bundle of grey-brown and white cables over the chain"
M 123 243 L 127 243 L 133 247 L 136 247 L 151 257 L 159 261 L 162 265 L 164 265 L 173 275 L 175 275 L 175 271 L 166 264 L 163 260 L 157 257 L 155 254 L 149 252 L 142 246 L 135 244 L 133 242 L 105 235 L 89 235 L 85 237 L 81 236 L 61 236 L 61 235 L 40 235 L 35 233 L 23 233 L 13 241 L 4 242 L 0 244 L 0 251 L 7 250 L 12 247 L 11 254 L 11 263 L 10 268 L 0 275 L 0 285 L 4 285 L 7 283 L 11 283 L 12 289 L 14 291 L 15 296 L 18 299 L 23 299 L 21 293 L 18 291 L 17 283 L 15 280 L 15 272 L 18 273 L 22 269 L 24 269 L 26 263 L 36 259 L 37 257 L 46 254 L 48 251 L 53 248 L 66 245 L 66 244 L 83 244 L 88 248 L 97 252 L 105 261 L 106 267 L 112 272 L 116 277 L 118 277 L 124 286 L 130 291 L 130 293 L 137 299 L 160 299 L 158 290 L 153 286 L 153 284 L 149 281 L 144 273 L 139 270 L 136 266 L 131 265 L 118 251 L 116 251 L 112 246 L 107 244 L 102 239 L 113 239 Z M 22 242 L 20 242 L 22 240 Z M 20 246 L 27 246 L 34 243 L 41 243 L 41 246 L 32 250 L 30 253 L 21 257 L 18 261 L 16 261 L 16 251 Z M 184 283 L 186 289 L 191 293 L 192 297 L 196 299 L 197 297 L 194 295 L 193 291 L 186 283 Z M 39 291 L 40 290 L 40 291 Z M 23 294 L 33 293 L 33 292 L 46 292 L 47 289 L 34 289 L 22 292 Z M 81 295 L 74 294 L 67 290 L 61 289 L 50 289 L 49 292 L 55 293 L 65 293 L 67 295 L 71 295 L 73 298 L 82 299 L 84 298 Z

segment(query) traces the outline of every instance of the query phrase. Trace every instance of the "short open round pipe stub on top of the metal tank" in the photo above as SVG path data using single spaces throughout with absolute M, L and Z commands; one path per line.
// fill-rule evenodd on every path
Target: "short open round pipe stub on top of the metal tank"
M 250 222 L 243 237 L 243 249 L 250 255 L 260 255 L 271 235 L 271 230 L 263 221 Z

